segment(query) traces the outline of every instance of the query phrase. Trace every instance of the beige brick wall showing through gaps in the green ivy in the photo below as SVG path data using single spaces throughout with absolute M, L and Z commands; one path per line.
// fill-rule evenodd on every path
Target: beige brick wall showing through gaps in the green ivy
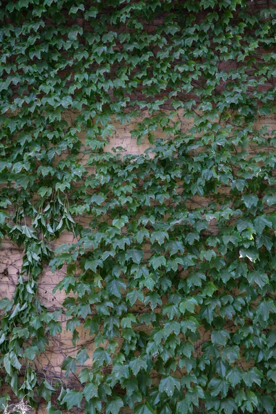
M 140 146 L 137 145 L 136 138 L 131 137 L 131 130 L 135 128 L 137 122 L 142 121 L 144 117 L 148 114 L 144 113 L 137 119 L 132 119 L 129 124 L 121 125 L 115 124 L 115 132 L 112 137 L 109 138 L 109 144 L 106 146 L 105 151 L 111 151 L 112 147 L 121 146 L 124 148 L 124 154 L 133 154 L 139 155 L 143 153 L 146 148 L 150 146 L 148 141 L 144 141 Z M 72 125 L 76 117 L 76 113 L 65 112 L 65 119 L 68 121 L 69 125 Z M 192 119 L 184 119 L 179 114 L 178 119 L 181 120 L 181 127 L 184 132 L 188 132 L 191 126 L 193 126 Z M 276 116 L 273 117 L 260 117 L 257 122 L 257 127 L 260 128 L 263 125 L 269 125 L 270 130 L 276 130 Z M 85 141 L 84 133 L 80 135 L 80 139 L 83 142 Z M 164 132 L 157 130 L 155 132 L 157 138 L 166 138 Z M 83 155 L 82 162 L 86 164 L 86 155 Z M 227 191 L 227 188 L 225 189 Z M 197 206 L 197 197 L 195 197 L 195 205 Z M 200 200 L 201 203 L 204 200 Z M 208 202 L 208 200 L 205 200 Z M 193 205 L 191 206 L 193 208 Z M 86 217 L 81 217 L 81 223 L 88 225 L 89 219 Z M 63 243 L 72 243 L 73 235 L 71 233 L 63 233 L 59 240 L 52 244 L 52 248 L 56 248 Z M 3 297 L 12 297 L 14 288 L 17 284 L 18 274 L 21 270 L 21 261 L 22 261 L 23 249 L 17 247 L 17 245 L 12 244 L 8 238 L 5 238 L 0 246 L 0 299 Z M 45 268 L 43 274 L 39 279 L 39 298 L 50 310 L 57 309 L 62 306 L 63 299 L 66 297 L 64 292 L 59 292 L 53 294 L 52 289 L 57 285 L 57 283 L 65 275 L 64 270 L 59 270 L 57 273 L 53 274 L 50 268 Z M 43 377 L 43 373 L 47 375 L 52 375 L 52 377 L 61 377 L 61 380 L 64 382 L 64 385 L 68 383 L 68 379 L 64 376 L 64 371 L 61 372 L 61 364 L 63 359 L 68 356 L 75 356 L 77 351 L 81 346 L 88 346 L 90 350 L 90 355 L 92 353 L 93 344 L 92 337 L 89 336 L 89 331 L 84 330 L 81 326 L 78 328 L 79 331 L 79 342 L 77 346 L 73 346 L 71 342 L 71 333 L 66 332 L 66 317 L 62 315 L 61 317 L 63 331 L 61 334 L 56 335 L 55 338 L 50 340 L 50 344 L 46 349 L 45 353 L 42 353 L 38 359 L 34 360 L 34 364 L 37 367 L 38 373 Z M 202 341 L 205 341 L 208 338 L 208 333 L 202 331 Z M 199 344 L 200 346 L 200 344 Z M 88 351 L 89 352 L 89 351 Z M 86 364 L 89 366 L 91 364 L 91 359 L 88 359 Z M 80 369 L 80 367 L 79 367 Z M 70 384 L 77 383 L 77 380 L 74 377 L 70 378 Z M 1 390 L 2 391 L 2 390 Z M 128 411 L 126 411 L 128 412 Z M 37 413 L 47 413 L 46 408 L 41 406 Z

